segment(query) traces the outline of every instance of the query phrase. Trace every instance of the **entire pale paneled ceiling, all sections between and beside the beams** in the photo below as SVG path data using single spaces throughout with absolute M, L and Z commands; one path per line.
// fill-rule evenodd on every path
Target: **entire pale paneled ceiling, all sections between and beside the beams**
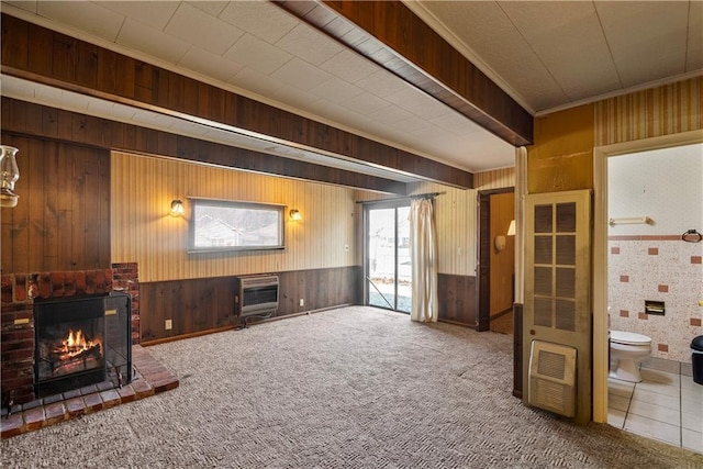
M 528 112 L 703 74 L 701 1 L 406 4 Z M 513 147 L 266 1 L 2 1 L 2 11 L 471 172 Z M 319 7 L 321 8 L 321 7 Z M 3 77 L 4 96 L 408 181 Z M 59 97 L 57 97 L 57 94 Z

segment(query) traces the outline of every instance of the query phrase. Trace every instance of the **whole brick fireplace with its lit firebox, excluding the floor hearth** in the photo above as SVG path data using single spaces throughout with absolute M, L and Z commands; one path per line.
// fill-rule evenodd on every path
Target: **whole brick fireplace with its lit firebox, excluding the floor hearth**
M 3 412 L 72 395 L 74 387 L 85 392 L 129 384 L 132 345 L 140 342 L 135 263 L 114 264 L 112 269 L 3 273 L 1 291 Z M 57 314 L 45 317 L 46 309 Z M 101 382 L 85 384 L 101 377 Z

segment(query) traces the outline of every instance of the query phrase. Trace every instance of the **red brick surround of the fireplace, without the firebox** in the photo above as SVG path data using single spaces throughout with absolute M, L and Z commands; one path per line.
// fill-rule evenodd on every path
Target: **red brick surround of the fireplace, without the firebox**
M 132 344 L 138 343 L 138 268 L 135 263 L 115 264 L 111 269 L 100 270 L 3 275 L 1 289 L 3 407 L 38 398 L 35 382 L 35 303 L 108 297 L 111 292 L 127 293 L 132 299 L 131 331 L 127 334 L 131 333 Z

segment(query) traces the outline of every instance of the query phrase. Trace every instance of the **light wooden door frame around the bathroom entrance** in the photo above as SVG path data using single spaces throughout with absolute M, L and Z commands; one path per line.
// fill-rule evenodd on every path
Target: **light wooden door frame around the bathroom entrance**
M 703 143 L 703 130 L 593 148 L 593 421 L 607 423 L 607 158 Z

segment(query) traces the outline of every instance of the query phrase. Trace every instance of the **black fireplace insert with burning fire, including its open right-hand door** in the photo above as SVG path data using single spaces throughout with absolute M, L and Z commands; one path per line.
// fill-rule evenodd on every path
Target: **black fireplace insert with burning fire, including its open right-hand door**
M 130 303 L 120 292 L 34 303 L 37 398 L 132 380 Z

